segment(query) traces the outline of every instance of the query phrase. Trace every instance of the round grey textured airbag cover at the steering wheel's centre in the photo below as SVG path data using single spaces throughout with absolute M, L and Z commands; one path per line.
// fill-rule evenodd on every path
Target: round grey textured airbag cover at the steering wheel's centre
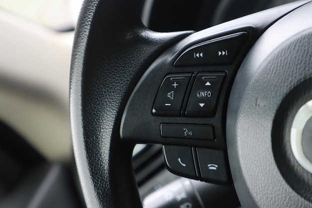
M 294 112 L 280 112 L 283 106 L 287 109 L 285 105 L 293 108 L 304 104 L 304 99 L 312 99 L 309 93 L 303 93 L 308 95 L 304 99 L 292 96 L 297 88 L 311 90 L 307 84 L 312 78 L 311 11 L 312 3 L 308 3 L 264 32 L 234 81 L 227 112 L 227 147 L 242 207 L 312 207 L 312 174 L 292 158 L 290 122 L 283 119 L 292 121 L 293 117 L 282 116 Z M 295 100 L 285 104 L 288 96 Z M 283 123 L 285 126 L 280 126 Z M 285 149 L 280 151 L 277 144 Z

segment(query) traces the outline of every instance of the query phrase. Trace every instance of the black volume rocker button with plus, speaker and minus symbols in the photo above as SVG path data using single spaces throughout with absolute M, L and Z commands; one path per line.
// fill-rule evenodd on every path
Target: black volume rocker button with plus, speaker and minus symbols
M 156 95 L 153 114 L 156 116 L 180 116 L 191 74 L 168 75 Z

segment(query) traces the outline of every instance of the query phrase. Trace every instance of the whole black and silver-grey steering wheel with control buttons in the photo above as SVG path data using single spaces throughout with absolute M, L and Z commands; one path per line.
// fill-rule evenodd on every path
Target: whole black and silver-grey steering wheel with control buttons
M 306 139 L 292 133 L 312 122 L 309 113 L 300 117 L 312 106 L 311 11 L 312 2 L 297 1 L 199 32 L 160 33 L 142 24 L 138 1 L 86 0 L 72 53 L 70 115 L 87 206 L 142 207 L 132 151 L 156 143 L 224 151 L 244 208 L 312 207 Z M 189 76 L 189 85 L 202 74 L 225 77 L 210 113 L 189 113 L 191 87 L 177 110 L 156 108 L 172 74 Z M 162 124 L 212 126 L 214 138 L 165 136 Z

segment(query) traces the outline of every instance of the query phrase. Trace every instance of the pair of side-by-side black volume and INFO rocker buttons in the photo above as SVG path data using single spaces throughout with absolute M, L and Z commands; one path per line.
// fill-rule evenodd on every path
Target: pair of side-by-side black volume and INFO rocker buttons
M 213 117 L 225 73 L 198 73 L 192 87 L 192 74 L 167 75 L 158 90 L 153 107 L 156 116 Z M 190 90 L 189 98 L 185 97 Z M 185 102 L 186 110 L 182 109 Z

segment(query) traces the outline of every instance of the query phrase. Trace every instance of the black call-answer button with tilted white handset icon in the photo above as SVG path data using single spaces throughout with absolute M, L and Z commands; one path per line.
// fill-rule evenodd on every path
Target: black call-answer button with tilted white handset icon
M 191 147 L 162 146 L 166 168 L 173 174 L 197 179 Z

